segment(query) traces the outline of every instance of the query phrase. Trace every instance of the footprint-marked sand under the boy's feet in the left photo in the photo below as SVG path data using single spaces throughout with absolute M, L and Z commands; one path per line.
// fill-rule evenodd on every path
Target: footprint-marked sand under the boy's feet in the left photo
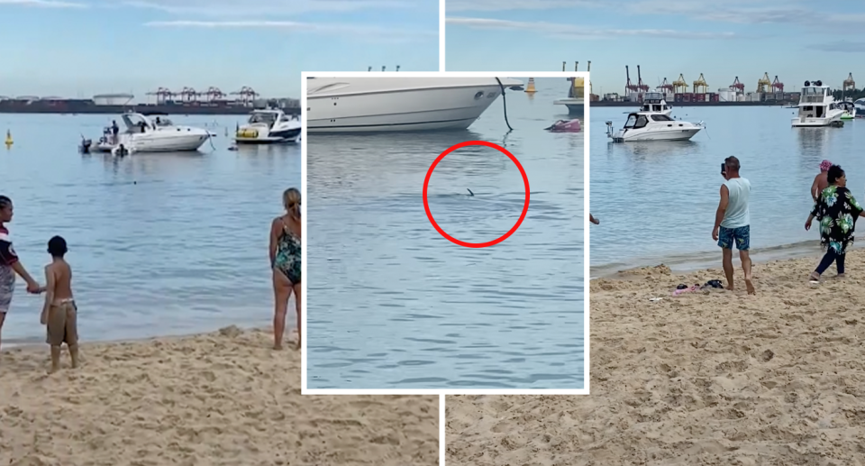
M 434 465 L 438 397 L 302 396 L 269 331 L 49 348 L 0 359 L 3 465 Z

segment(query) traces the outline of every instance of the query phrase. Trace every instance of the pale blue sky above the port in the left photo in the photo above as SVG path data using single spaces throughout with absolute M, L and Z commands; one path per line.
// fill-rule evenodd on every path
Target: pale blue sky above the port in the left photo
M 0 0 L 0 96 L 250 86 L 300 72 L 437 71 L 438 0 Z

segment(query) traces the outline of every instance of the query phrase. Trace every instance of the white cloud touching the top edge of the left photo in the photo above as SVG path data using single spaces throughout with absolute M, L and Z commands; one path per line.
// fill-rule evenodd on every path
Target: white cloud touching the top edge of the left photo
M 159 10 L 168 14 L 250 17 L 313 12 L 346 13 L 369 9 L 410 8 L 422 0 L 257 0 L 242 4 L 232 0 L 128 0 L 123 5 Z M 431 0 L 423 0 L 430 2 Z

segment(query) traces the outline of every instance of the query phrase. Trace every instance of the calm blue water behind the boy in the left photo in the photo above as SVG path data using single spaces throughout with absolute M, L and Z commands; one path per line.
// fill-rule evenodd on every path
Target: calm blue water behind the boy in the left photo
M 171 119 L 216 132 L 214 147 L 123 160 L 82 155 L 80 134 L 96 140 L 109 115 L 0 115 L 0 130 L 14 136 L 10 150 L 0 146 L 0 191 L 13 198 L 15 249 L 43 282 L 49 238 L 67 239 L 85 340 L 272 318 L 269 224 L 283 189 L 300 186 L 300 146 L 228 151 L 225 131 L 242 115 Z M 4 343 L 43 341 L 43 298 L 28 295 L 21 279 L 15 293 Z

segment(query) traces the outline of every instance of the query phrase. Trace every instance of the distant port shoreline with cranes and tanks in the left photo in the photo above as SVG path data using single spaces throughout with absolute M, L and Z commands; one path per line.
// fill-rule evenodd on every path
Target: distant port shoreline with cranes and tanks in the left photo
M 148 92 L 155 103 L 135 103 L 132 94 L 101 94 L 92 98 L 56 96 L 0 96 L 0 114 L 249 114 L 256 108 L 279 108 L 286 114 L 300 114 L 300 100 L 290 98 L 262 99 L 251 87 L 228 95 L 218 87 L 197 92 L 183 87 L 179 92 L 166 87 Z

